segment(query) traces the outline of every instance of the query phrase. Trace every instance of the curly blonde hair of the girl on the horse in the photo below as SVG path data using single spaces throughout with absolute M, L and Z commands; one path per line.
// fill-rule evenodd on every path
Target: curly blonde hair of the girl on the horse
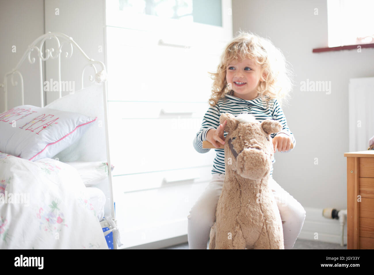
M 258 94 L 277 99 L 280 105 L 288 100 L 293 86 L 292 70 L 281 50 L 257 34 L 239 31 L 221 55 L 217 73 L 209 73 L 214 80 L 209 105 L 215 106 L 220 98 L 231 91 L 226 81 L 227 65 L 233 60 L 243 59 L 252 59 L 261 67 L 264 81 L 260 81 L 257 87 Z

